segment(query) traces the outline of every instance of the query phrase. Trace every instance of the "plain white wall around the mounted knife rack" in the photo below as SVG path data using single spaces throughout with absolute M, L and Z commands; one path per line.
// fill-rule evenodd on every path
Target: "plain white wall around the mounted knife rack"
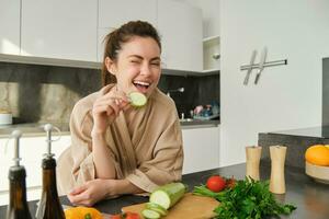
M 259 132 L 321 125 L 322 58 L 329 57 L 329 1 L 220 1 L 220 165 L 245 161 Z M 251 51 L 266 46 L 265 68 L 243 85 Z

